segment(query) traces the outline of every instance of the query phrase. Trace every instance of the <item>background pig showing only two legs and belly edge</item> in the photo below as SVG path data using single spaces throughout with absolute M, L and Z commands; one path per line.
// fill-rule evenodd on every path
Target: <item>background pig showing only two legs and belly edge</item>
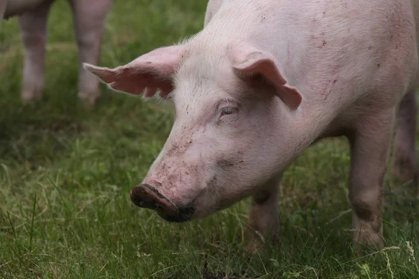
M 93 105 L 99 97 L 98 81 L 81 62 L 98 63 L 105 18 L 113 0 L 69 0 L 73 9 L 80 59 L 79 97 Z M 18 15 L 25 48 L 22 99 L 41 98 L 44 85 L 47 17 L 54 0 L 0 0 L 2 18 Z

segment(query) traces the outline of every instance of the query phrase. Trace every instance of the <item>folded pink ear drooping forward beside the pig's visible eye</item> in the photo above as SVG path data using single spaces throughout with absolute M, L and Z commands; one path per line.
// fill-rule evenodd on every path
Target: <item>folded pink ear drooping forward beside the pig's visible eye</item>
M 281 100 L 296 110 L 302 97 L 297 89 L 286 85 L 286 80 L 279 73 L 276 59 L 269 53 L 248 49 L 233 52 L 233 69 L 238 77 L 247 82 L 256 81 L 256 77 L 264 77 L 275 87 L 275 92 Z

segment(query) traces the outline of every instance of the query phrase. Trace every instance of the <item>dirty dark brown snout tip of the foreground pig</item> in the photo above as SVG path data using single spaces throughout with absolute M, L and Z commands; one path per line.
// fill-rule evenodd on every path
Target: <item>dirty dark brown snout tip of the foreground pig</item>
M 135 186 L 130 193 L 131 202 L 136 206 L 157 211 L 161 218 L 169 222 L 184 222 L 189 220 L 195 211 L 194 206 L 176 206 L 161 195 L 159 190 L 149 184 Z

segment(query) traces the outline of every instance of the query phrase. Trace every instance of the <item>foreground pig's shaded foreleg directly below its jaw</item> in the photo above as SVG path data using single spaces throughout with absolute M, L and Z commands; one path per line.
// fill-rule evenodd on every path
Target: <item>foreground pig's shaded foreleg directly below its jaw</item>
M 249 215 L 249 248 L 253 251 L 263 244 L 263 240 L 272 240 L 279 227 L 278 193 L 282 174 L 275 177 L 256 192 L 251 200 Z

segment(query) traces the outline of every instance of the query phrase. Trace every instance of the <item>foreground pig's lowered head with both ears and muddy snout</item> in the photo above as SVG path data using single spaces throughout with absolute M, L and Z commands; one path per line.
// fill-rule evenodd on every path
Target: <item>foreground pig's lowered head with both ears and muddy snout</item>
M 168 140 L 131 191 L 135 205 L 166 220 L 202 218 L 224 209 L 251 195 L 293 158 L 293 150 L 283 147 L 292 137 L 284 127 L 302 97 L 287 86 L 264 50 L 247 43 L 204 50 L 189 42 L 161 47 L 115 69 L 84 67 L 116 91 L 145 92 L 150 98 L 159 89 L 161 98 L 174 101 Z

